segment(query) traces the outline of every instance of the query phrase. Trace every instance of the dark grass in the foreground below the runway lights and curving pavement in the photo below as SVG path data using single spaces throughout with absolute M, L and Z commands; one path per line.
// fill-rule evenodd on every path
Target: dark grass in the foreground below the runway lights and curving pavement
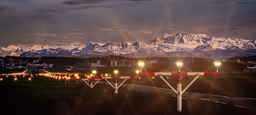
M 2 115 L 255 115 L 246 109 L 198 99 L 183 100 L 182 113 L 176 112 L 172 95 L 145 93 L 120 88 L 118 95 L 111 86 L 67 82 L 35 76 L 4 78 L 0 82 Z

